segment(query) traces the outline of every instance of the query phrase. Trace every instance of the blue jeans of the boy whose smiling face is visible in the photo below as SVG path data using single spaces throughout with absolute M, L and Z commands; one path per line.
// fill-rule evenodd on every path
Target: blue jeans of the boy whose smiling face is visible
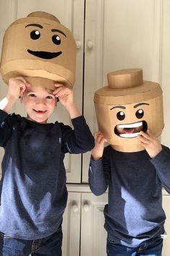
M 61 256 L 62 239 L 61 228 L 37 240 L 14 239 L 0 232 L 0 256 Z

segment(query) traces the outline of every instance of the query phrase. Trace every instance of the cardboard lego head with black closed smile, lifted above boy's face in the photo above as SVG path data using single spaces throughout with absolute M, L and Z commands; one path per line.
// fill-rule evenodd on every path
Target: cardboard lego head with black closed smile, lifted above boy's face
M 4 35 L 1 76 L 8 84 L 16 76 L 36 76 L 73 86 L 76 42 L 56 17 L 33 12 L 17 19 Z

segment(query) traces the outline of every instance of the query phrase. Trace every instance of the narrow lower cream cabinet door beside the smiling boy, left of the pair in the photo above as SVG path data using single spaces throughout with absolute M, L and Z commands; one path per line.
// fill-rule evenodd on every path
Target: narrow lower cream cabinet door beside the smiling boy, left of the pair
M 63 215 L 63 246 L 64 256 L 79 256 L 81 226 L 81 193 L 68 193 L 68 203 Z

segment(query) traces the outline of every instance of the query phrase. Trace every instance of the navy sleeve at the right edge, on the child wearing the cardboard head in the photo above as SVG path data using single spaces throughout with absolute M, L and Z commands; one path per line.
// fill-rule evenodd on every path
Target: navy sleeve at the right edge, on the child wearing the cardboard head
M 150 161 L 156 168 L 156 173 L 162 185 L 170 193 L 170 149 L 162 146 L 161 152 Z

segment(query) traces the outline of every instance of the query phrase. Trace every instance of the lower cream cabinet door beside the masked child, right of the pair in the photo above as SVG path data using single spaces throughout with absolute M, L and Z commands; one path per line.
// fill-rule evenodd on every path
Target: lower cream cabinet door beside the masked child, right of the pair
M 105 256 L 107 232 L 104 229 L 104 205 L 107 193 L 99 197 L 81 195 L 81 256 Z

